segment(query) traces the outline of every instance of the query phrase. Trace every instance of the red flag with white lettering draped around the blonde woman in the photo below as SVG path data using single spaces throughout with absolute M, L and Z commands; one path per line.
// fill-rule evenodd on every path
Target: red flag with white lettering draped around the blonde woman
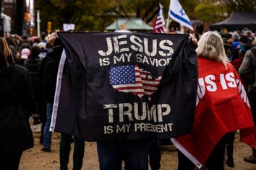
M 197 106 L 192 133 L 173 138 L 174 145 L 197 167 L 205 163 L 226 133 L 256 148 L 256 133 L 246 91 L 235 68 L 198 58 Z M 210 68 L 210 69 L 209 69 Z

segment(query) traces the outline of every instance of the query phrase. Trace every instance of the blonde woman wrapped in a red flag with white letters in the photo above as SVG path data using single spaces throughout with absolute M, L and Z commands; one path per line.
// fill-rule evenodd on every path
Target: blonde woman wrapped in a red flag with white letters
M 198 86 L 192 132 L 171 140 L 179 149 L 178 170 L 194 170 L 202 164 L 208 170 L 223 170 L 231 132 L 239 130 L 244 143 L 256 146 L 251 107 L 242 81 L 226 57 L 221 36 L 206 32 L 196 52 Z

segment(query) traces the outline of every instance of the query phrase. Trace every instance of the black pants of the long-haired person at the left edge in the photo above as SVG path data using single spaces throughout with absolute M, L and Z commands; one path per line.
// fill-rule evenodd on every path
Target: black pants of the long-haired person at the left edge
M 22 152 L 0 153 L 0 169 L 18 170 Z

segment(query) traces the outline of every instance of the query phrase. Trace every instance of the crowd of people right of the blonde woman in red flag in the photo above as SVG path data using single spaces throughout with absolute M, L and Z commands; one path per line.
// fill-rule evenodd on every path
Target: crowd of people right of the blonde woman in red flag
M 224 42 L 227 57 L 234 68 L 236 68 L 236 71 L 239 72 L 239 75 L 243 81 L 244 87 L 248 94 L 249 103 L 251 104 L 253 120 L 256 122 L 256 89 L 253 86 L 256 80 L 256 32 L 252 32 L 252 30 L 244 28 L 241 32 L 235 31 L 231 33 L 224 33 L 221 35 L 221 37 Z M 226 160 L 226 164 L 231 167 L 234 167 L 234 158 L 232 157 L 233 142 L 234 134 L 230 143 L 227 145 L 228 158 Z M 256 164 L 256 151 L 252 149 L 252 156 L 245 157 L 244 161 Z

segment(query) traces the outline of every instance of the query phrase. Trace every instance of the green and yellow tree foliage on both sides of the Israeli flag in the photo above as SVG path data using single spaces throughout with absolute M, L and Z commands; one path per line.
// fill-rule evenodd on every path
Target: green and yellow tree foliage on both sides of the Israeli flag
M 255 0 L 179 0 L 189 19 L 202 22 L 220 22 L 231 12 L 256 11 Z M 64 23 L 74 23 L 76 31 L 103 31 L 117 17 L 141 17 L 145 22 L 154 22 L 158 4 L 163 5 L 164 17 L 168 17 L 170 1 L 166 0 L 35 0 L 35 9 L 40 9 L 41 30 L 62 28 Z

